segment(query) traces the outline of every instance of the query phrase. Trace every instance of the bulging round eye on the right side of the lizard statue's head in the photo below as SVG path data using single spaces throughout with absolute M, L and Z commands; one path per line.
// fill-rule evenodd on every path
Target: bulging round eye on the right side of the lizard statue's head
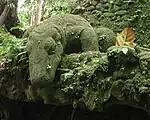
M 46 40 L 44 49 L 48 55 L 52 55 L 55 53 L 56 50 L 56 43 L 53 39 Z

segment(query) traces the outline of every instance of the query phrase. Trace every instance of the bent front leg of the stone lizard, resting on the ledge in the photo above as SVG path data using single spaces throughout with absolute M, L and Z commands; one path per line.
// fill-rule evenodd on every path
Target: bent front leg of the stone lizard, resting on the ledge
M 66 33 L 67 39 L 73 37 L 80 40 L 82 51 L 99 51 L 97 35 L 92 27 L 71 26 Z

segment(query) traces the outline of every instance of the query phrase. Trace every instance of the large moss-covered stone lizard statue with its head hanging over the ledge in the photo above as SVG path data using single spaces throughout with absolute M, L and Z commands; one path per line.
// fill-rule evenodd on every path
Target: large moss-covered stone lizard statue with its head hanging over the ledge
M 97 35 L 79 15 L 53 15 L 29 34 L 31 84 L 45 87 L 54 81 L 63 54 L 99 51 Z

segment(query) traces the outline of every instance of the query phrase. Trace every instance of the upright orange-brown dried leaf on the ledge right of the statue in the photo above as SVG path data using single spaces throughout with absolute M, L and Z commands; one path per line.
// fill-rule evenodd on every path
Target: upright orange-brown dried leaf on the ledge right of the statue
M 134 31 L 133 28 L 127 26 L 120 35 L 123 37 L 125 42 L 131 42 L 134 43 L 135 37 L 134 37 Z

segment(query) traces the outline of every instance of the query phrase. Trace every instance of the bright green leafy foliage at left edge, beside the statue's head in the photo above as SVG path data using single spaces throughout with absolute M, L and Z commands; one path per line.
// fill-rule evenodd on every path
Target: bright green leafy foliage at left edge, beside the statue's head
M 19 39 L 0 30 L 0 58 L 13 59 L 24 49 L 25 39 Z

